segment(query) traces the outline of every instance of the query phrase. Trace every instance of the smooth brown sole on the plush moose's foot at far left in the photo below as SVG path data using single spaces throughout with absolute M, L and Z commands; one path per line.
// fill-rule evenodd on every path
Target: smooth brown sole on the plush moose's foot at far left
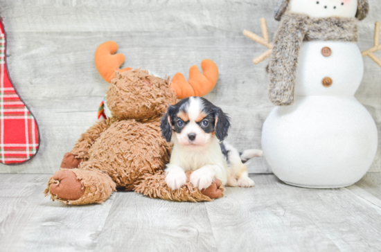
M 60 199 L 76 200 L 85 193 L 86 188 L 71 170 L 55 172 L 52 178 L 57 183 L 50 185 L 51 193 Z

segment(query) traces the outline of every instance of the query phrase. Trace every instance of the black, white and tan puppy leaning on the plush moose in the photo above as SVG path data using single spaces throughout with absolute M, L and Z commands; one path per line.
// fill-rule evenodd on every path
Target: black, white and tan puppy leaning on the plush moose
M 204 98 L 190 97 L 168 107 L 161 118 L 161 132 L 166 141 L 173 142 L 166 166 L 166 183 L 172 190 L 185 185 L 186 170 L 194 171 L 190 183 L 200 190 L 211 186 L 214 179 L 227 186 L 254 186 L 244 163 L 254 156 L 263 156 L 263 152 L 238 153 L 223 141 L 229 127 L 229 117 Z

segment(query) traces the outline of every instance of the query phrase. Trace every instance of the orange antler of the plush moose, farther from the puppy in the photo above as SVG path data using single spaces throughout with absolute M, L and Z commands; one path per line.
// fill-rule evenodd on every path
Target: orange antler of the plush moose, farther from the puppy
M 118 51 L 118 44 L 113 41 L 107 41 L 96 48 L 96 70 L 98 70 L 98 73 L 102 76 L 103 80 L 107 82 L 111 82 L 115 77 L 115 71 L 121 73 L 131 70 L 129 67 L 119 69 L 123 62 L 125 62 L 125 56 L 121 53 L 114 54 L 116 51 Z

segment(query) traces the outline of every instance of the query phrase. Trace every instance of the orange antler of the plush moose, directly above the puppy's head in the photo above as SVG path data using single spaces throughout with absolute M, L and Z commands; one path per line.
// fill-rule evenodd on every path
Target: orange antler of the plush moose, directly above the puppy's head
M 197 66 L 190 66 L 188 82 L 182 73 L 173 76 L 170 87 L 176 92 L 177 98 L 184 99 L 190 96 L 205 96 L 209 93 L 218 81 L 218 67 L 211 60 L 203 60 L 201 69 Z

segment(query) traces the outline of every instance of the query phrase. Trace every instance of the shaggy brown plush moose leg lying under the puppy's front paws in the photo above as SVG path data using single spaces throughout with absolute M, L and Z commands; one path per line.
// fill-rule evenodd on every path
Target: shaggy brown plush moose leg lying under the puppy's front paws
M 179 190 L 172 190 L 167 186 L 165 181 L 166 175 L 163 171 L 155 174 L 145 174 L 142 180 L 135 186 L 134 190 L 150 198 L 172 201 L 211 201 L 222 197 L 224 187 L 221 185 L 221 181 L 216 179 L 209 188 L 200 191 L 189 183 L 190 173 L 191 172 L 186 172 L 186 176 L 188 177 L 187 183 L 185 186 L 179 188 Z

